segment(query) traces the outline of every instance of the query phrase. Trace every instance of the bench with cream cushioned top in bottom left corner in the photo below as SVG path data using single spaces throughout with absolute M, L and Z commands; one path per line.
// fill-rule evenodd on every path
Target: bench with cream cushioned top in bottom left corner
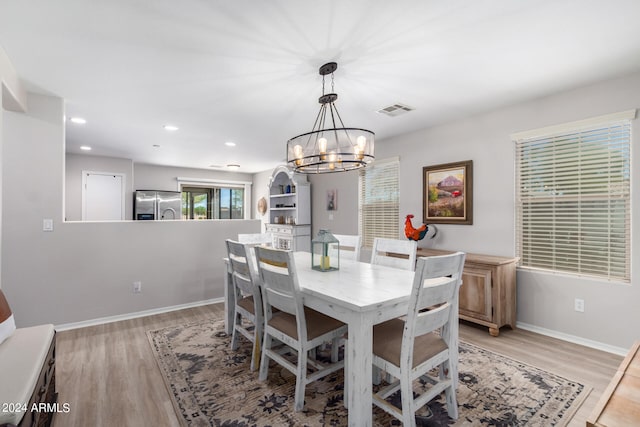
M 55 343 L 53 325 L 15 329 L 0 291 L 0 427 L 51 424 L 57 411 Z

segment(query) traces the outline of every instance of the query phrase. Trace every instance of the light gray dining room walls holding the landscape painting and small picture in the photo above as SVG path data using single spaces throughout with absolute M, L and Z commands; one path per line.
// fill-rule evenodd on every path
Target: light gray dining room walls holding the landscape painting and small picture
M 640 107 L 640 73 L 600 84 L 558 93 L 513 107 L 461 119 L 392 139 L 376 141 L 376 157 L 400 156 L 400 218 L 422 217 L 422 168 L 473 160 L 473 225 L 438 225 L 434 240 L 420 247 L 463 250 L 471 253 L 515 254 L 514 145 L 509 135 L 523 130 L 566 123 Z M 382 120 L 382 119 L 381 119 Z M 386 120 L 402 120 L 401 117 Z M 637 146 L 640 119 L 633 121 Z M 632 150 L 632 171 L 640 164 L 640 150 Z M 314 231 L 327 225 L 338 233 L 357 230 L 357 174 L 312 177 Z M 634 178 L 637 183 L 637 178 Z M 328 221 L 324 194 L 338 188 L 338 212 Z M 345 202 L 347 203 L 345 205 Z M 349 211 L 342 216 L 347 206 Z M 632 247 L 640 245 L 640 198 L 633 198 Z M 338 213 L 341 215 L 338 216 Z M 417 223 L 417 221 L 416 221 Z M 632 283 L 567 275 L 518 271 L 517 320 L 519 324 L 560 337 L 592 341 L 612 350 L 629 348 L 638 339 L 640 324 L 640 257 L 632 258 Z M 585 312 L 573 310 L 575 298 L 585 301 Z

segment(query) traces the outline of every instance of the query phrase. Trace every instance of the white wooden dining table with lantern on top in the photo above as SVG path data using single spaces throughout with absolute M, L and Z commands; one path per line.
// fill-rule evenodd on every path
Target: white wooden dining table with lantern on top
M 407 313 L 414 273 L 350 260 L 341 260 L 339 270 L 320 272 L 311 268 L 310 253 L 295 252 L 294 259 L 304 304 L 348 325 L 349 425 L 371 426 L 373 325 Z M 232 298 L 233 290 L 225 296 Z M 225 307 L 233 307 L 233 301 L 225 301 Z M 226 319 L 229 331 L 233 313 Z

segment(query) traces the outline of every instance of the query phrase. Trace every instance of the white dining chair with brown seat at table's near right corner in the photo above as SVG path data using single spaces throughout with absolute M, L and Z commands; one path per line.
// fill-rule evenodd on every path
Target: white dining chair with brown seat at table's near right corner
M 373 403 L 404 426 L 415 426 L 415 412 L 444 391 L 447 412 L 458 418 L 458 291 L 465 254 L 418 259 L 406 316 L 373 327 L 374 369 L 396 380 L 373 394 Z M 430 372 L 438 368 L 437 373 Z M 414 398 L 414 383 L 431 387 Z M 402 407 L 387 398 L 400 390 Z

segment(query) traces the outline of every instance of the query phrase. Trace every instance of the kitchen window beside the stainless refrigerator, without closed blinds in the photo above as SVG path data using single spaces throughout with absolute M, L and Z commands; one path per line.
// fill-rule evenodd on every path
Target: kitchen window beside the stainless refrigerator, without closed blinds
M 183 219 L 243 219 L 243 188 L 182 187 Z

